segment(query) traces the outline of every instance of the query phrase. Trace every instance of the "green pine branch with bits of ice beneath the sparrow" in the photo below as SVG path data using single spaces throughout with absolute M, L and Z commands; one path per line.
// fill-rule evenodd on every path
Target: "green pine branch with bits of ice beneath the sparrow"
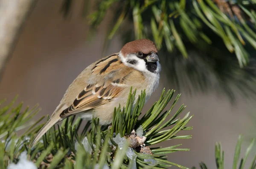
M 166 155 L 177 151 L 189 151 L 181 149 L 178 145 L 169 147 L 154 147 L 154 144 L 171 140 L 172 138 L 191 138 L 187 135 L 178 135 L 181 130 L 190 130 L 186 127 L 192 116 L 189 113 L 183 118 L 177 118 L 185 109 L 180 109 L 170 117 L 172 109 L 180 95 L 177 95 L 169 111 L 163 112 L 174 95 L 174 91 L 163 90 L 160 99 L 154 103 L 151 109 L 139 118 L 145 102 L 145 91 L 141 92 L 136 103 L 134 102 L 136 90 L 132 90 L 125 108 L 120 106 L 114 110 L 112 126 L 100 126 L 99 119 L 93 119 L 81 127 L 82 120 L 75 116 L 69 117 L 61 125 L 53 126 L 32 149 L 26 145 L 30 137 L 33 137 L 41 126 L 30 126 L 22 136 L 17 136 L 15 131 L 22 126 L 27 119 L 35 115 L 35 110 L 20 113 L 21 105 L 12 111 L 11 104 L 0 108 L 3 119 L 10 118 L 13 126 L 9 129 L 12 135 L 6 135 L 0 143 L 0 165 L 17 166 L 20 163 L 32 163 L 36 168 L 108 168 L 134 169 L 151 167 L 154 169 L 185 166 L 166 160 Z M 134 105 L 134 109 L 133 108 Z M 17 118 L 19 117 L 19 118 Z M 48 117 L 49 118 L 49 117 Z M 1 119 L 2 120 L 2 119 Z M 24 122 L 23 122 L 24 121 Z M 0 121 L 4 133 L 9 121 Z M 9 133 L 9 132 L 7 132 Z M 149 147 L 150 146 L 150 147 Z M 3 157 L 3 158 L 2 158 Z

